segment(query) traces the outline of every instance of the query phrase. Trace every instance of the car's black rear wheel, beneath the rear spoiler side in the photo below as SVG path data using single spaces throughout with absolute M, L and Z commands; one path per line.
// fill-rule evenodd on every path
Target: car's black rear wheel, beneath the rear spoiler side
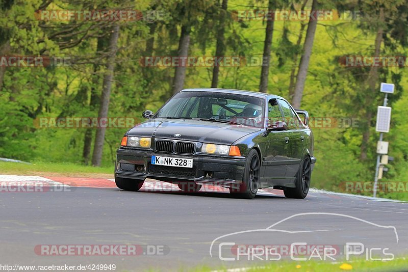
M 311 161 L 310 157 L 306 156 L 299 171 L 296 174 L 295 188 L 286 188 L 284 190 L 285 197 L 303 199 L 308 195 L 311 181 Z

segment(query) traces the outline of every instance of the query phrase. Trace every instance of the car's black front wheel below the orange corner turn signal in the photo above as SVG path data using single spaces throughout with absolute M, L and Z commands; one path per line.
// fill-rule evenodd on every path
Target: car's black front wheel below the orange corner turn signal
M 253 199 L 257 195 L 259 188 L 260 170 L 261 164 L 258 152 L 252 149 L 246 158 L 242 183 L 239 184 L 238 188 L 231 187 L 230 193 L 237 198 Z

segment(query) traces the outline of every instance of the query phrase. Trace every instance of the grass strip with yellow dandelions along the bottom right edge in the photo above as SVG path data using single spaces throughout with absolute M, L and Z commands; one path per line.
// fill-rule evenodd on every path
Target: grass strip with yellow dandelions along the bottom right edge
M 242 269 L 242 272 L 252 271 L 406 271 L 408 260 L 404 258 L 395 258 L 392 261 L 366 261 L 363 259 L 355 259 L 348 262 L 330 263 L 324 261 L 269 261 L 265 264 L 249 266 L 247 269 Z M 230 268 L 231 269 L 231 268 Z M 199 266 L 189 271 L 227 271 L 228 268 L 210 268 L 207 266 Z

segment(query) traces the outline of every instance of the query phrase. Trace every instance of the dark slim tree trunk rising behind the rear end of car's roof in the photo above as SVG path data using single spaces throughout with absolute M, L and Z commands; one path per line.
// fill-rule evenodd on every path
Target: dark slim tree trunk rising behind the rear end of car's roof
M 269 4 L 268 4 L 269 12 L 272 12 L 274 8 L 275 8 L 275 1 L 269 0 Z M 261 81 L 259 84 L 259 91 L 263 93 L 268 92 L 269 61 L 271 57 L 274 16 L 272 15 L 271 18 L 272 18 L 271 20 L 268 20 L 266 22 L 264 53 L 263 53 L 262 68 L 261 68 Z

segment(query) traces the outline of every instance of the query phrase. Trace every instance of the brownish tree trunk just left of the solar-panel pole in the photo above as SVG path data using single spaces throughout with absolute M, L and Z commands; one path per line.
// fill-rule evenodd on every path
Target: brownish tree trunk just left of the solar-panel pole
M 380 22 L 384 22 L 384 10 L 382 8 L 380 8 L 380 11 L 379 11 L 379 19 L 380 19 Z M 379 57 L 383 33 L 384 33 L 384 30 L 382 29 L 382 25 L 380 25 L 377 29 L 377 35 L 375 37 L 374 57 Z M 362 139 L 361 149 L 360 149 L 360 159 L 361 160 L 367 159 L 367 147 L 368 147 L 368 142 L 370 140 L 370 123 L 373 117 L 373 113 L 371 109 L 369 108 L 369 106 L 372 105 L 373 102 L 375 101 L 375 97 L 377 94 L 377 89 L 375 88 L 375 85 L 377 81 L 378 81 L 378 67 L 373 65 L 370 68 L 370 72 L 368 73 L 368 77 L 366 81 L 366 86 L 368 86 L 369 88 L 368 90 L 369 95 L 367 96 L 367 99 L 366 99 L 367 110 L 366 110 L 365 119 L 367 123 L 363 127 L 364 129 L 363 139 Z

